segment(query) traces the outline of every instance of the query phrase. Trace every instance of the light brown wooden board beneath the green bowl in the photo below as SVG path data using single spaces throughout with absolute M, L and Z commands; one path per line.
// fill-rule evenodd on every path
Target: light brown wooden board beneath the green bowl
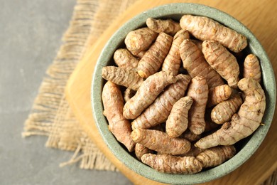
M 205 4 L 215 7 L 219 10 L 227 12 L 244 23 L 264 46 L 273 65 L 274 73 L 277 73 L 277 6 L 274 1 L 180 1 L 180 0 L 164 0 L 164 1 L 137 1 L 124 14 L 121 14 L 114 23 L 112 23 L 107 31 L 97 40 L 96 43 L 87 48 L 87 52 L 77 65 L 74 73 L 67 84 L 66 95 L 70 102 L 72 110 L 80 120 L 89 137 L 97 144 L 99 149 L 106 157 L 134 184 L 158 184 L 155 181 L 136 174 L 128 169 L 124 164 L 119 162 L 116 157 L 109 151 L 106 144 L 102 140 L 97 127 L 94 125 L 92 110 L 90 105 L 90 85 L 94 65 L 97 61 L 99 53 L 102 51 L 104 44 L 112 36 L 123 23 L 130 18 L 140 14 L 142 11 L 151 9 L 154 6 L 161 4 L 169 4 L 174 2 L 193 2 Z M 232 173 L 215 181 L 206 184 L 261 184 L 272 174 L 277 168 L 277 129 L 276 115 L 273 118 L 271 129 L 269 130 L 266 139 L 261 144 L 261 147 L 256 153 L 242 166 Z

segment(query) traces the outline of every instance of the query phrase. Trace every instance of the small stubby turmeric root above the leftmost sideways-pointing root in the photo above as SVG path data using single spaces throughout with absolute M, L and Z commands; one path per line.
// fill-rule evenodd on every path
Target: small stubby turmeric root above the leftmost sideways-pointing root
M 139 65 L 139 59 L 134 57 L 127 49 L 118 49 L 114 52 L 114 63 L 119 68 L 136 70 L 136 67 Z

